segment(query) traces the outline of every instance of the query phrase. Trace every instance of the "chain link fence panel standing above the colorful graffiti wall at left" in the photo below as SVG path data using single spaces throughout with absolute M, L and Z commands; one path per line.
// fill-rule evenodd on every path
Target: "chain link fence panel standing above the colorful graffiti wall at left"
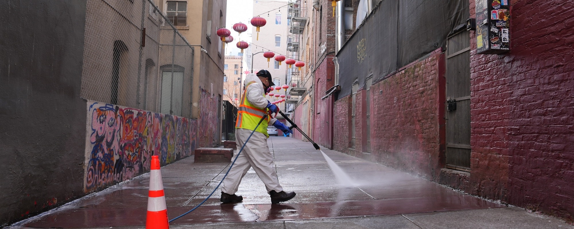
M 82 97 L 191 117 L 194 49 L 173 25 L 187 15 L 152 0 L 87 0 L 86 10 Z

